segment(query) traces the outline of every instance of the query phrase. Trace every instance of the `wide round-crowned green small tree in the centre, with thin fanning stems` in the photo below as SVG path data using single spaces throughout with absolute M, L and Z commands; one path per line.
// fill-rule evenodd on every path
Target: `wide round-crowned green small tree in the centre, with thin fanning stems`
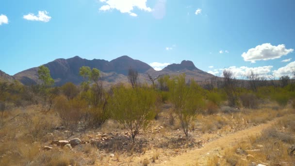
M 119 86 L 114 89 L 111 100 L 113 118 L 126 126 L 132 136 L 147 127 L 155 116 L 155 93 L 150 89 L 135 87 L 134 89 Z

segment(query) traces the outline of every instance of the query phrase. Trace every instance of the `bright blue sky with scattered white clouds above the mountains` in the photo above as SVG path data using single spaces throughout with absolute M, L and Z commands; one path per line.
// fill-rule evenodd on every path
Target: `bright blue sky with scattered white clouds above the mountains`
M 220 76 L 292 75 L 295 0 L 1 0 L 0 70 L 122 55 Z

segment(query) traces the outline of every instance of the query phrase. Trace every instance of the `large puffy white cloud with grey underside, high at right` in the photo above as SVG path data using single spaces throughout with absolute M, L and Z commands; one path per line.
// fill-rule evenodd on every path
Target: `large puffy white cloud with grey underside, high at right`
M 266 61 L 270 59 L 277 59 L 290 52 L 293 52 L 293 49 L 286 49 L 283 44 L 272 46 L 270 43 L 264 43 L 256 46 L 255 48 L 249 49 L 247 52 L 244 52 L 242 57 L 244 58 L 244 61 L 255 63 L 260 60 Z

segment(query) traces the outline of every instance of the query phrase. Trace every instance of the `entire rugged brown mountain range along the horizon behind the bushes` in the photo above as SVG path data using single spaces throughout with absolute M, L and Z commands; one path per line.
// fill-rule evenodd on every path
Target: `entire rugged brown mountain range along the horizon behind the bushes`
M 63 85 L 67 82 L 80 84 L 82 77 L 79 75 L 79 69 L 81 66 L 89 66 L 91 68 L 98 68 L 103 76 L 103 82 L 106 85 L 114 83 L 128 83 L 128 69 L 132 68 L 138 71 L 139 81 L 141 83 L 149 83 L 148 75 L 157 77 L 158 75 L 179 75 L 185 73 L 187 79 L 194 79 L 196 81 L 204 81 L 213 77 L 205 71 L 198 69 L 192 61 L 182 61 L 180 64 L 171 64 L 166 66 L 160 71 L 154 70 L 148 64 L 134 60 L 129 56 L 121 56 L 112 61 L 93 59 L 82 59 L 79 56 L 75 56 L 69 59 L 56 59 L 52 62 L 44 64 L 50 70 L 50 75 L 55 81 L 55 85 Z M 0 72 L 0 78 L 6 78 L 9 80 L 16 79 L 25 85 L 35 84 L 38 82 L 38 67 L 33 67 L 19 73 L 14 76 L 9 76 L 4 72 Z

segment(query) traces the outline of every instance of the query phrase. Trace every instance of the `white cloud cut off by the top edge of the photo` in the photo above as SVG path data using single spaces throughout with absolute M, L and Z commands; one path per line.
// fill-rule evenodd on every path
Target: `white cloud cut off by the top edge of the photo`
M 100 2 L 106 3 L 99 8 L 100 11 L 116 9 L 133 17 L 137 16 L 137 14 L 131 12 L 134 7 L 147 12 L 152 11 L 150 7 L 147 7 L 147 0 L 100 0 Z

